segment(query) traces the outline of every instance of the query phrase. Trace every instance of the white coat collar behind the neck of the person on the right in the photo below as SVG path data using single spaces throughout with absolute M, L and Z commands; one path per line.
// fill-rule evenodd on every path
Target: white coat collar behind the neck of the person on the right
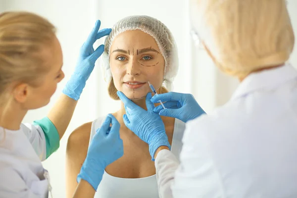
M 231 100 L 247 96 L 257 90 L 278 87 L 294 78 L 297 78 L 297 70 L 290 64 L 252 73 L 241 82 Z

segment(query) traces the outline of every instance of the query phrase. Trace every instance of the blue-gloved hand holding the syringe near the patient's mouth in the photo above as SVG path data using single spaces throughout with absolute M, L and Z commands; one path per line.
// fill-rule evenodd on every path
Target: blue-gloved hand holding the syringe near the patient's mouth
M 151 98 L 151 101 L 154 103 L 159 103 L 159 100 L 163 102 L 166 109 L 163 109 L 161 105 L 158 105 L 153 109 L 155 113 L 174 117 L 183 122 L 193 120 L 205 113 L 192 94 L 169 92 L 157 96 L 155 95 Z

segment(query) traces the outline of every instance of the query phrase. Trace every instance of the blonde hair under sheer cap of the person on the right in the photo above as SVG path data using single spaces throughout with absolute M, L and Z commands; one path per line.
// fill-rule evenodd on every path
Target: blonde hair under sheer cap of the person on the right
M 194 27 L 216 65 L 238 77 L 285 63 L 294 33 L 285 0 L 191 0 Z

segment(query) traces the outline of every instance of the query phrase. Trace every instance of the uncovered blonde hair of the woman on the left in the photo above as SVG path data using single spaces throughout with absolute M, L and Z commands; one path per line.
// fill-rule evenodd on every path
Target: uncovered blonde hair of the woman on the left
M 11 83 L 34 85 L 36 77 L 48 71 L 40 52 L 54 35 L 55 27 L 36 14 L 0 14 L 0 97 Z

